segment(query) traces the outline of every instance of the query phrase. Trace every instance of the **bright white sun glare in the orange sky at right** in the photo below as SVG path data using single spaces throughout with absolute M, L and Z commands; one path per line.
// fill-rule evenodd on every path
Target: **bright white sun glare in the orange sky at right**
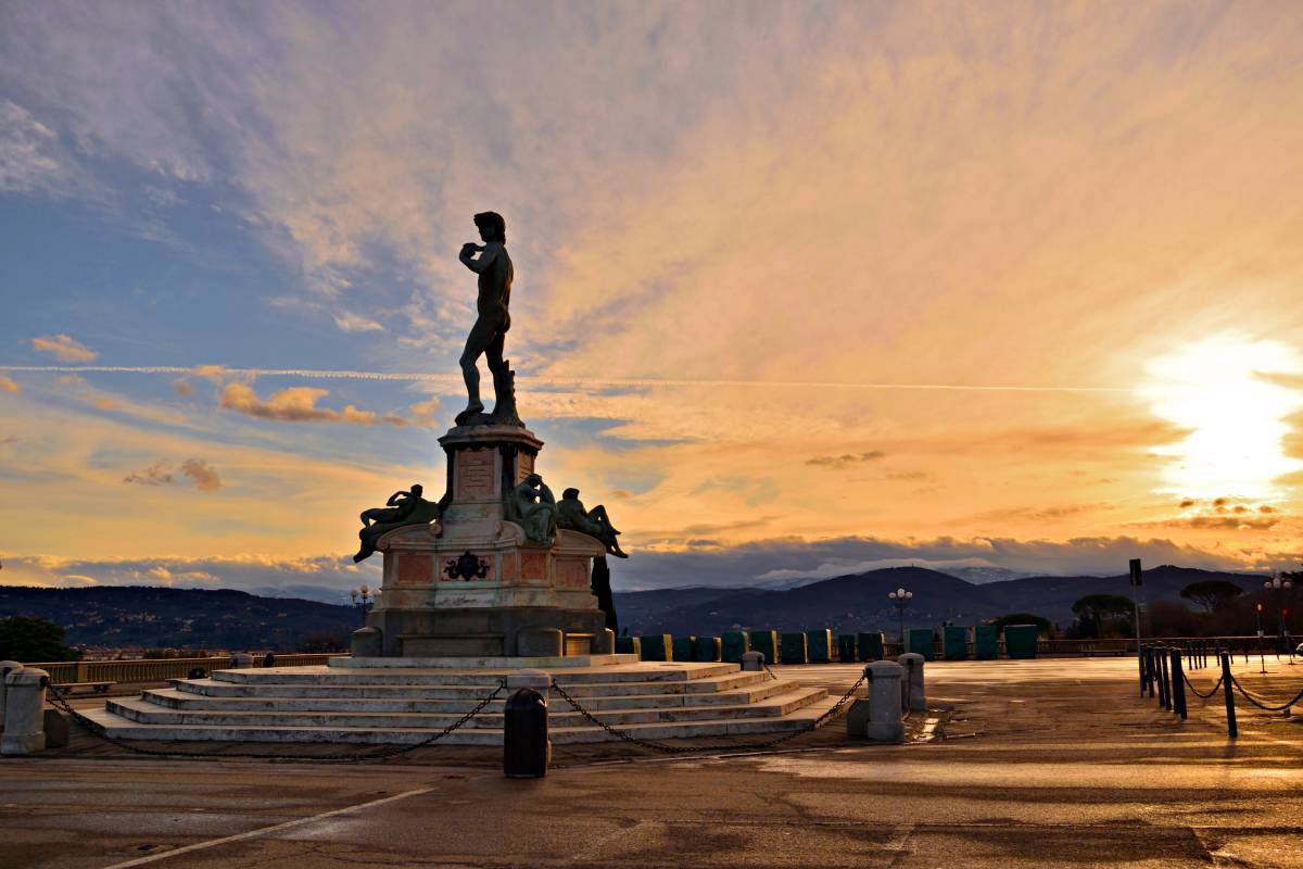
M 1169 456 L 1160 490 L 1183 498 L 1280 500 L 1277 481 L 1303 469 L 1285 453 L 1287 418 L 1303 390 L 1270 375 L 1303 374 L 1298 350 L 1280 341 L 1212 337 L 1154 360 L 1140 395 L 1153 412 L 1190 434 L 1156 447 Z

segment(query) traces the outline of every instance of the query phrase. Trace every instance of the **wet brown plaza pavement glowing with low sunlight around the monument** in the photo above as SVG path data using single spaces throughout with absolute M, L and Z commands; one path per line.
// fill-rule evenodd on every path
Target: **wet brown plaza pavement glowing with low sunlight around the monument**
M 1267 667 L 1237 662 L 1251 691 L 1303 687 L 1303 666 Z M 838 694 L 859 674 L 784 671 Z M 74 728 L 68 749 L 0 761 L 0 869 L 1303 866 L 1303 718 L 1242 702 L 1231 743 L 1220 702 L 1191 696 L 1182 723 L 1141 700 L 1134 658 L 926 672 L 932 741 L 851 743 L 835 722 L 774 753 L 575 747 L 537 780 L 483 749 L 160 760 Z

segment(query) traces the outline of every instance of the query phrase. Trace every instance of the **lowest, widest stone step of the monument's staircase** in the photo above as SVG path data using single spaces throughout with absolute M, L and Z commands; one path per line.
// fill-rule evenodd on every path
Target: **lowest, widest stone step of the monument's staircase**
M 823 710 L 833 705 L 822 689 L 813 689 L 804 705 L 780 718 L 704 719 L 693 722 L 654 722 L 628 724 L 620 730 L 640 739 L 681 739 L 700 736 L 756 736 L 780 735 L 808 727 Z M 87 710 L 86 717 L 116 739 L 158 741 L 233 741 L 233 743 L 340 743 L 340 744 L 416 744 L 434 736 L 442 728 L 374 727 L 263 727 L 263 726 L 210 726 L 210 724 L 142 724 L 121 718 L 103 709 Z M 618 739 L 606 731 L 586 727 L 549 727 L 554 744 L 601 743 Z M 453 731 L 440 744 L 447 745 L 502 745 L 500 728 L 465 727 Z M 740 745 L 739 749 L 745 749 Z M 193 749 L 182 749 L 193 750 Z M 310 762 L 310 761 L 306 761 Z

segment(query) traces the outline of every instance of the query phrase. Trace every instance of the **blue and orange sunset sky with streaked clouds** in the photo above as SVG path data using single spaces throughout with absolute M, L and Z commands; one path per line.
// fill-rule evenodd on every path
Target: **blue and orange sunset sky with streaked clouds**
M 374 585 L 483 210 L 618 590 L 1294 569 L 1299 46 L 1283 0 L 0 0 L 0 582 Z

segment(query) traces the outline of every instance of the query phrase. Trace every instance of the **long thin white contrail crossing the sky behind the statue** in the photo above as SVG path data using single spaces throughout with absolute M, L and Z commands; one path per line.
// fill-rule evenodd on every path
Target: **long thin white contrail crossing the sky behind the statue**
M 417 371 L 349 371 L 324 369 L 228 369 L 215 366 L 182 367 L 179 365 L 0 365 L 0 371 L 34 374 L 173 374 L 190 377 L 296 377 L 323 380 L 405 380 L 433 383 L 461 383 L 456 374 L 423 374 Z M 732 386 L 761 388 L 801 390 L 939 390 L 954 392 L 1132 392 L 1134 390 L 1108 386 L 981 386 L 967 383 L 838 383 L 830 380 L 706 380 L 662 378 L 594 378 L 524 375 L 521 380 L 547 386 L 595 387 L 698 387 Z

